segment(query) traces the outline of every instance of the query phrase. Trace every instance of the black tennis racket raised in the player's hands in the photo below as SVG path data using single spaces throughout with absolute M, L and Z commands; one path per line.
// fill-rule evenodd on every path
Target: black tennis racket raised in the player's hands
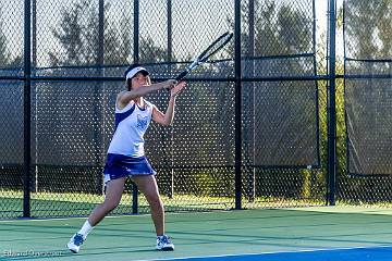
M 212 41 L 211 45 L 207 47 L 206 50 L 204 50 L 199 55 L 197 55 L 194 61 L 175 77 L 175 79 L 180 82 L 198 65 L 206 62 L 210 57 L 221 50 L 231 40 L 231 38 L 233 38 L 233 33 L 226 32 L 220 37 L 218 37 L 215 41 Z

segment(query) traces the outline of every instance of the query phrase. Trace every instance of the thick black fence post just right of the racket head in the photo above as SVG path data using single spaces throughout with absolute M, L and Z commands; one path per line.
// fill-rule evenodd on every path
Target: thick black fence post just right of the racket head
M 235 74 L 235 209 L 242 209 L 242 136 L 241 136 L 241 0 L 234 7 L 234 74 Z

